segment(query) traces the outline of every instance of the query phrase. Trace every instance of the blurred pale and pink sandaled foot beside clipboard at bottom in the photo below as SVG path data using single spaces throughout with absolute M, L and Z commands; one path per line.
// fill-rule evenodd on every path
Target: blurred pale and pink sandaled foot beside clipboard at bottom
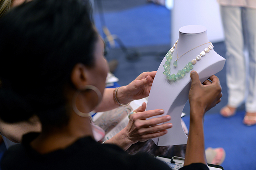
M 226 152 L 223 148 L 207 148 L 205 150 L 206 160 L 208 164 L 221 165 L 226 157 Z

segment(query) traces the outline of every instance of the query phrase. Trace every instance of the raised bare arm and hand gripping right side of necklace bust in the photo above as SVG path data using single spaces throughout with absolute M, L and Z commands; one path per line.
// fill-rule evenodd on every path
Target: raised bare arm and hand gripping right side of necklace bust
M 196 71 L 191 71 L 189 91 L 190 125 L 184 166 L 192 163 L 206 164 L 203 119 L 206 111 L 220 102 L 222 97 L 219 79 L 213 75 L 202 85 Z

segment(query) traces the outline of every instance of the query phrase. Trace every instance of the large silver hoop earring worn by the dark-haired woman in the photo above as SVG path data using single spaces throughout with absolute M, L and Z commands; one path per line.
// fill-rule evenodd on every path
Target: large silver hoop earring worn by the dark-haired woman
M 89 117 L 89 116 L 91 116 L 91 115 L 90 115 L 91 112 L 89 112 L 89 113 L 80 112 L 80 111 L 78 110 L 78 108 L 77 108 L 77 105 L 76 105 L 76 99 L 77 99 L 79 93 L 80 93 L 81 91 L 85 91 L 85 90 L 88 90 L 88 89 L 93 90 L 93 91 L 96 92 L 96 94 L 97 94 L 97 96 L 98 96 L 98 104 L 99 104 L 100 101 L 102 100 L 102 95 L 101 95 L 99 89 L 98 89 L 97 87 L 93 86 L 93 85 L 86 85 L 83 90 L 77 90 L 77 91 L 75 92 L 74 97 L 73 97 L 73 100 L 72 100 L 72 109 L 73 109 L 73 111 L 74 111 L 78 116 L 81 116 L 81 117 Z M 98 104 L 97 104 L 97 105 L 98 105 Z M 94 111 L 92 111 L 92 112 L 94 112 Z

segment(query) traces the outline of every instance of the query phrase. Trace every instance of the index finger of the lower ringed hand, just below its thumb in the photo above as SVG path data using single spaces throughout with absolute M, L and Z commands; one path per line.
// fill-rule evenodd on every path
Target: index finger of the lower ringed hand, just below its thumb
M 162 115 L 163 113 L 164 113 L 163 109 L 155 109 L 155 110 L 140 112 L 140 113 L 132 114 L 130 116 L 130 120 L 137 120 L 137 119 L 144 120 L 152 116 Z

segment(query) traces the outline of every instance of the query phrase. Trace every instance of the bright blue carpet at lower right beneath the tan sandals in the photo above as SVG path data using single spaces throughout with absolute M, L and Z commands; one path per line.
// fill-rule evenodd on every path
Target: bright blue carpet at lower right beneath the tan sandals
M 223 147 L 226 159 L 221 165 L 225 170 L 256 169 L 256 126 L 242 123 L 244 111 L 230 118 L 220 114 L 207 114 L 204 121 L 205 148 Z M 189 128 L 189 116 L 184 117 Z

